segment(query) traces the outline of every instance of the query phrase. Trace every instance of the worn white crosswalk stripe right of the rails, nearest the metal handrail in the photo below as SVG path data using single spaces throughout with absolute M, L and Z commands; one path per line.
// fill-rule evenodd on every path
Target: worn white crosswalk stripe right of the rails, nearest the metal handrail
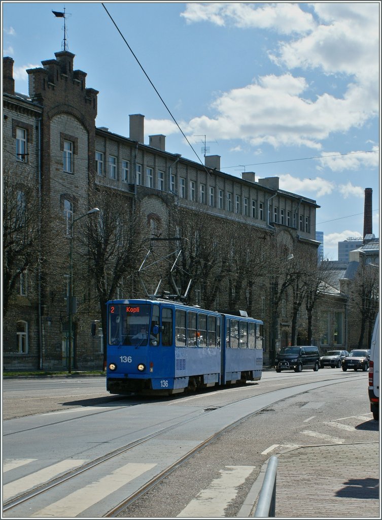
M 177 517 L 223 518 L 228 504 L 254 469 L 255 466 L 226 466 L 225 470 L 220 470 L 220 476 L 200 491 Z

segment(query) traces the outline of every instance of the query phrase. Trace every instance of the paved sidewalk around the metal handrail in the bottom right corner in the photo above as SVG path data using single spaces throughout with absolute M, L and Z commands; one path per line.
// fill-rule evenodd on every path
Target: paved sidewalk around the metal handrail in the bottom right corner
M 378 443 L 306 446 L 278 459 L 276 517 L 380 518 Z M 254 516 L 266 466 L 238 517 Z

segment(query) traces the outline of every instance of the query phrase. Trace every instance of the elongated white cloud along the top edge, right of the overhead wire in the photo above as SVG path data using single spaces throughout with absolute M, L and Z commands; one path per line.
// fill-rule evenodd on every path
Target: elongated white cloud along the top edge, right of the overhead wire
M 232 23 L 235 27 L 273 29 L 282 34 L 305 33 L 314 27 L 309 12 L 292 3 L 269 5 L 239 3 L 190 3 L 181 13 L 187 23 L 208 21 L 219 27 Z

